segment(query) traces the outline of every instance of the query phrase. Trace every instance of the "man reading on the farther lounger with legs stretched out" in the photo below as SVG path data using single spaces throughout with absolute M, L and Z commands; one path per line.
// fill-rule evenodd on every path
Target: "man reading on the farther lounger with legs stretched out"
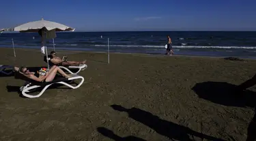
M 80 64 L 85 64 L 86 60 L 83 62 L 67 61 L 67 57 L 64 56 L 62 59 L 56 55 L 56 52 L 51 52 L 51 62 L 57 66 L 79 66 Z

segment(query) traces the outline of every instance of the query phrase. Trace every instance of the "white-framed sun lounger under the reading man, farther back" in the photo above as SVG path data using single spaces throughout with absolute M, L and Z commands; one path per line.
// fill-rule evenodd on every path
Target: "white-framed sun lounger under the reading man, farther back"
M 51 58 L 49 56 L 48 56 L 48 58 L 46 58 L 46 56 L 44 56 L 44 62 L 47 62 L 46 59 L 48 59 L 50 66 L 57 65 L 57 64 L 53 64 L 51 62 Z M 80 64 L 79 66 L 60 66 L 60 65 L 57 65 L 57 66 L 59 66 L 59 68 L 61 68 L 61 69 L 64 69 L 65 71 L 67 71 L 70 74 L 77 74 L 80 71 L 83 71 L 83 70 L 85 70 L 85 68 L 87 68 L 86 64 Z

